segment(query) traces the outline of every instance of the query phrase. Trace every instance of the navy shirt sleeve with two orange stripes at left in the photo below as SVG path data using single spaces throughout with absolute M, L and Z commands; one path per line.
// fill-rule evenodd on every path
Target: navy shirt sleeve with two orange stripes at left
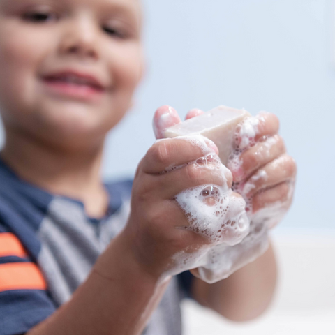
M 55 309 L 40 269 L 0 223 L 0 335 L 24 334 Z

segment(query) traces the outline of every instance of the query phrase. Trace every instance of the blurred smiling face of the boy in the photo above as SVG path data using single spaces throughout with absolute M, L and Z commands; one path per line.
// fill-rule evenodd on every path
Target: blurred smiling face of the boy
M 0 0 L 8 133 L 57 145 L 102 140 L 142 75 L 140 21 L 138 0 Z

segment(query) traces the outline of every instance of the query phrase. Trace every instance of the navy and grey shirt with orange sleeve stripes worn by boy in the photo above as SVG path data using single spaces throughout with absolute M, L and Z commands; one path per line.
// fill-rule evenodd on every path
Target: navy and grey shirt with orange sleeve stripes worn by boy
M 1 160 L 0 185 L 0 335 L 24 334 L 70 299 L 124 228 L 132 181 L 106 184 L 101 220 L 89 218 L 82 202 L 23 181 Z M 189 273 L 172 279 L 143 334 L 181 334 L 179 304 L 190 286 Z

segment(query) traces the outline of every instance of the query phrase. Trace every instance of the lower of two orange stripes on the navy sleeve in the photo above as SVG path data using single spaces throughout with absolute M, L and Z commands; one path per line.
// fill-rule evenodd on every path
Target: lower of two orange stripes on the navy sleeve
M 31 262 L 0 264 L 0 292 L 8 290 L 45 290 L 45 280 Z

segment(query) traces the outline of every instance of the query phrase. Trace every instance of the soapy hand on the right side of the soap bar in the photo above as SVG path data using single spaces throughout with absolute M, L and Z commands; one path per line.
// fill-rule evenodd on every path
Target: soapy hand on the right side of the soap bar
M 255 136 L 246 138 L 246 128 L 254 127 Z M 237 129 L 236 151 L 228 162 L 233 188 L 248 203 L 252 221 L 264 221 L 273 228 L 292 202 L 297 167 L 288 156 L 283 138 L 278 135 L 279 121 L 274 114 L 260 113 Z

